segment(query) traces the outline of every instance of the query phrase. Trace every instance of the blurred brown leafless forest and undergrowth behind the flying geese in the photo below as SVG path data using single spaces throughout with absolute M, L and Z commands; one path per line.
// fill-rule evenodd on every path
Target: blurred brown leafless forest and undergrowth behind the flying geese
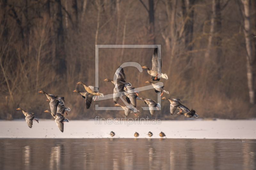
M 92 101 L 86 109 L 79 81 L 95 85 L 95 44 L 161 44 L 161 79 L 168 98 L 178 98 L 200 118 L 256 117 L 256 1 L 254 0 L 1 0 L 0 119 L 24 118 L 16 108 L 51 118 L 44 94 L 64 96 L 68 119 L 124 117 L 124 111 L 95 111 L 95 104 L 114 107 L 113 99 Z M 122 63 L 152 68 L 154 48 L 100 48 L 99 88 L 113 93 L 112 79 Z M 148 85 L 143 69 L 124 68 L 133 87 Z M 157 100 L 154 90 L 139 97 Z M 120 104 L 123 104 L 119 100 Z M 144 101 L 137 100 L 140 117 Z M 170 115 L 162 99 L 156 118 Z M 178 112 L 178 110 L 176 111 Z M 131 114 L 130 117 L 134 117 Z M 155 118 L 155 117 L 154 117 Z

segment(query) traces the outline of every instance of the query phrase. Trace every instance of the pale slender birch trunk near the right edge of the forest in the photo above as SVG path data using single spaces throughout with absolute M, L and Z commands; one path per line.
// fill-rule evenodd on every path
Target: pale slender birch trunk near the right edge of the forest
M 255 94 L 253 88 L 253 71 L 252 71 L 252 42 L 251 42 L 251 22 L 250 22 L 250 0 L 243 0 L 244 4 L 244 36 L 245 36 L 245 43 L 246 43 L 246 51 L 247 51 L 247 80 L 248 80 L 248 89 L 249 89 L 249 98 L 250 103 L 255 103 Z

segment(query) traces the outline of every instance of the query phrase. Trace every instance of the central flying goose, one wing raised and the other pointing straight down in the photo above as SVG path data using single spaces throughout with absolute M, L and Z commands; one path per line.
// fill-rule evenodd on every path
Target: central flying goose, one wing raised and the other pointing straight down
M 124 70 L 122 67 L 118 67 L 118 69 L 116 70 L 116 80 L 110 80 L 108 78 L 106 78 L 104 81 L 108 81 L 108 82 L 112 82 L 115 85 L 114 88 L 114 93 L 113 93 L 113 100 L 114 103 L 117 103 L 117 101 L 119 100 L 121 93 L 124 91 L 124 87 L 127 90 L 127 87 L 131 87 L 132 84 L 131 83 L 126 83 L 125 82 L 125 74 L 124 74 Z

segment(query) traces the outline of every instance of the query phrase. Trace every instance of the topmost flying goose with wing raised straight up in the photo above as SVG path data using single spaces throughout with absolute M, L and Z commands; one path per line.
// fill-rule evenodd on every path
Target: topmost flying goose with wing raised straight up
M 151 75 L 153 81 L 159 81 L 160 78 L 164 78 L 168 80 L 167 74 L 163 74 L 162 69 L 162 59 L 160 51 L 158 52 L 158 46 L 155 47 L 153 58 L 152 58 L 152 70 L 150 70 L 147 66 L 143 66 L 142 68 L 148 70 L 148 74 Z M 160 62 L 160 67 L 158 67 L 158 63 Z M 158 72 L 161 71 L 161 75 L 158 75 Z

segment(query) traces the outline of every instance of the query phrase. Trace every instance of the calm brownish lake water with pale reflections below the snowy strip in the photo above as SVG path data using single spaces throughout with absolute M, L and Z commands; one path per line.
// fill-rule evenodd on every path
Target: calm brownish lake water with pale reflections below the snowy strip
M 256 140 L 0 139 L 0 169 L 256 169 Z

